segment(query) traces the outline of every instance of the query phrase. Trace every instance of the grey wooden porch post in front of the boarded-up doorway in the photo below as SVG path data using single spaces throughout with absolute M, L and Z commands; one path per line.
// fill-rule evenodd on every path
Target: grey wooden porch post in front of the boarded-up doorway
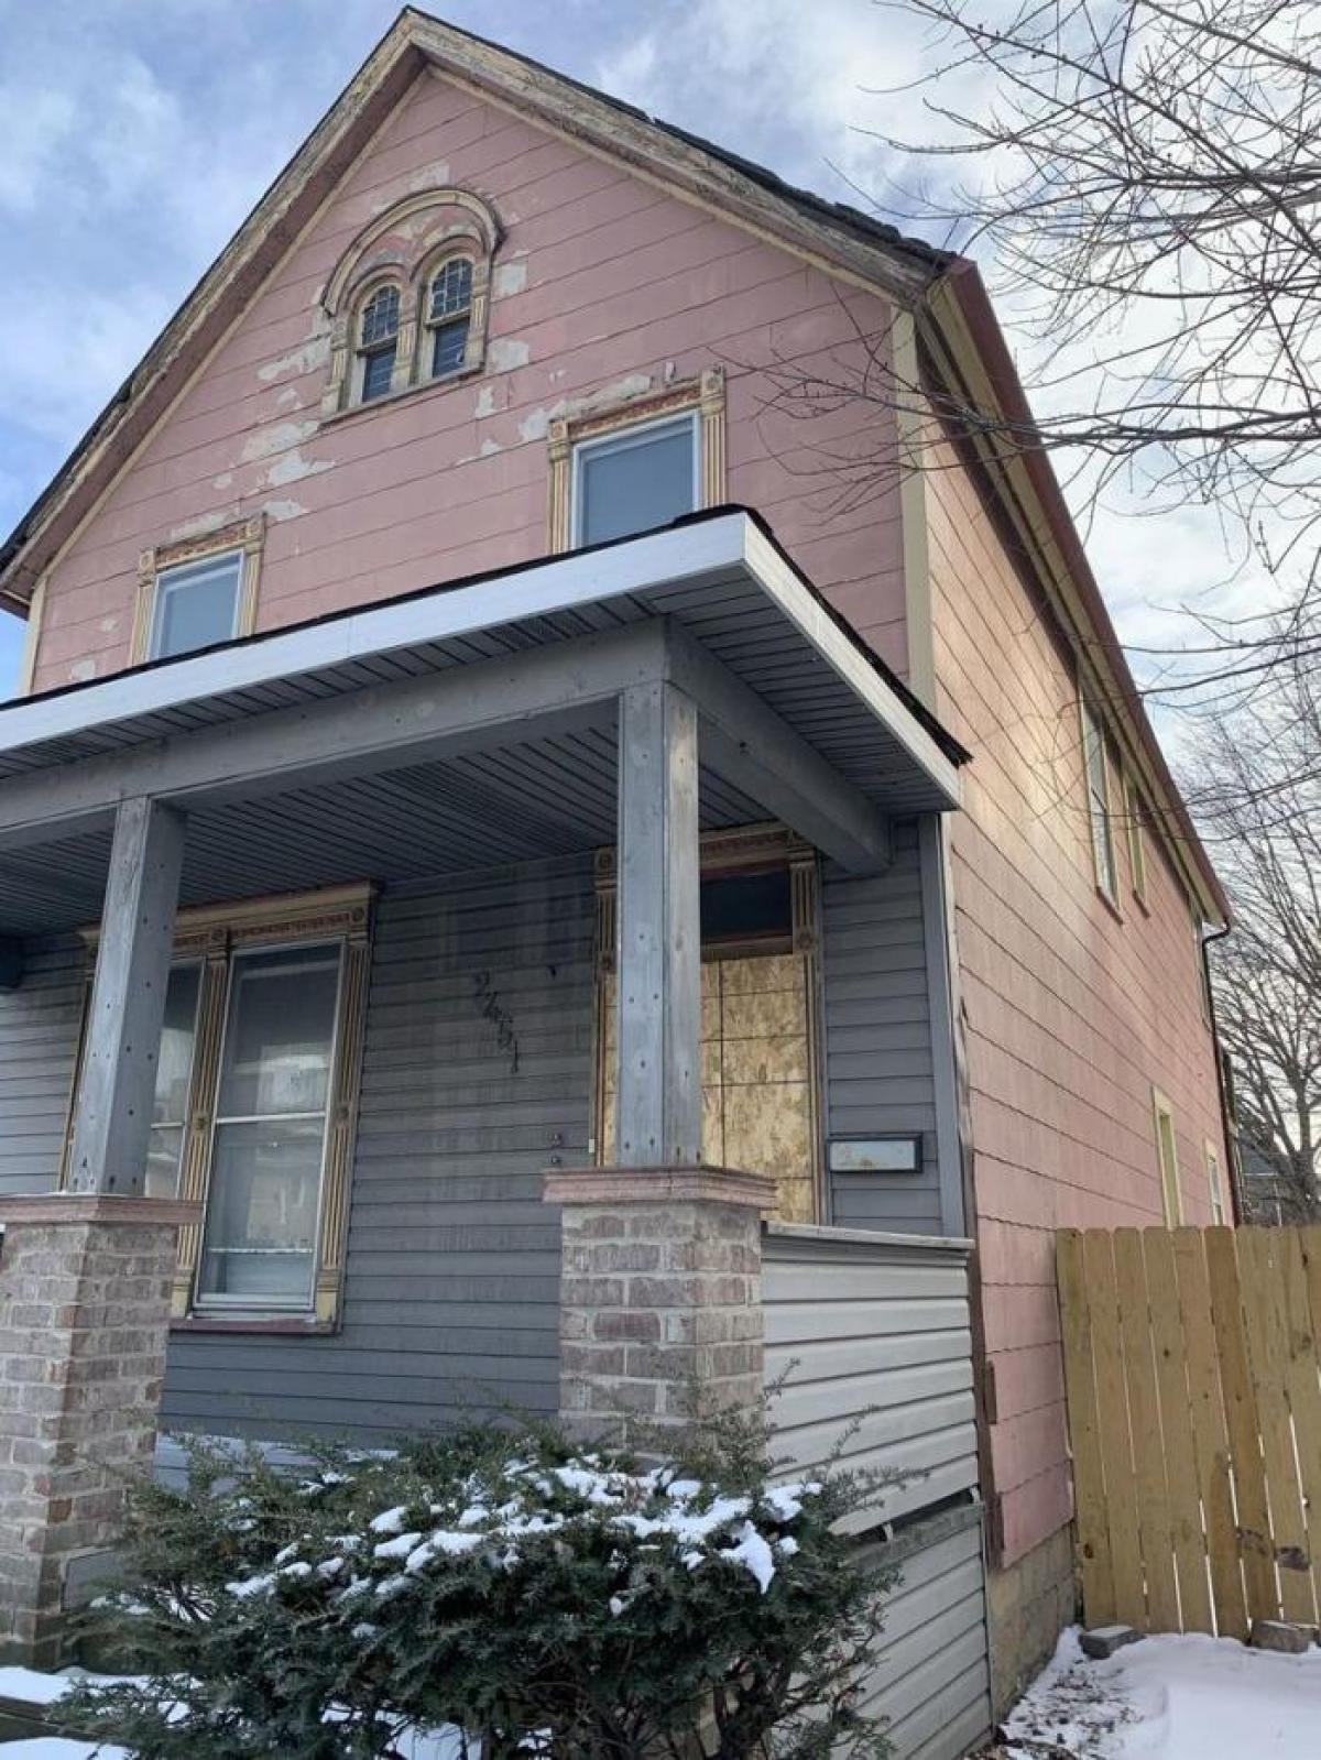
M 673 685 L 620 693 L 618 1163 L 701 1162 L 697 709 Z

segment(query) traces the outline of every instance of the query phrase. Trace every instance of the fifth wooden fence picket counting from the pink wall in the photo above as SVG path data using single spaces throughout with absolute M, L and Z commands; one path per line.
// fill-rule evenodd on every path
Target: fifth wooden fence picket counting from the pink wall
M 1212 1624 L 1203 1602 L 1185 1600 L 1184 1630 L 1219 1632 L 1224 1637 L 1245 1639 L 1247 1598 L 1244 1595 L 1244 1566 L 1238 1556 L 1238 1529 L 1229 1482 L 1229 1438 L 1221 1399 L 1221 1366 L 1201 1230 L 1177 1228 L 1171 1236 L 1168 1228 L 1152 1228 L 1147 1234 L 1147 1251 L 1161 1265 L 1173 1257 L 1178 1295 L 1175 1304 L 1171 1287 L 1171 1308 L 1177 1306 L 1184 1320 L 1198 1492 L 1205 1512 L 1207 1554 L 1215 1603 L 1215 1623 Z M 1148 1271 L 1148 1280 L 1155 1294 L 1162 1280 L 1154 1269 Z

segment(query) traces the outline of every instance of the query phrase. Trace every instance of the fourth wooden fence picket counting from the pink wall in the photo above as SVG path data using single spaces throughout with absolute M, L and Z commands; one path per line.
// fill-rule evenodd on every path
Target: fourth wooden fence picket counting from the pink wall
M 1194 1244 L 1198 1246 L 1198 1253 L 1201 1253 L 1201 1243 L 1194 1241 Z M 1152 1315 L 1155 1387 L 1161 1403 L 1161 1436 L 1164 1438 L 1170 1528 L 1180 1605 L 1180 1624 L 1168 1626 L 1166 1630 L 1210 1632 L 1212 1605 L 1207 1580 L 1210 1536 L 1203 1535 L 1203 1503 L 1210 1505 L 1198 1461 L 1198 1438 L 1194 1433 L 1196 1396 L 1191 1392 L 1191 1375 L 1185 1378 L 1192 1357 L 1192 1346 L 1185 1339 L 1185 1332 L 1199 1324 L 1210 1334 L 1210 1309 L 1203 1304 L 1201 1315 L 1191 1316 L 1191 1325 L 1180 1315 L 1173 1236 L 1168 1228 L 1145 1228 L 1141 1234 L 1141 1253 Z M 1226 1487 L 1228 1484 L 1226 1463 Z M 1229 1544 L 1233 1547 L 1231 1535 Z M 1233 1556 L 1233 1568 L 1238 1570 L 1236 1554 Z

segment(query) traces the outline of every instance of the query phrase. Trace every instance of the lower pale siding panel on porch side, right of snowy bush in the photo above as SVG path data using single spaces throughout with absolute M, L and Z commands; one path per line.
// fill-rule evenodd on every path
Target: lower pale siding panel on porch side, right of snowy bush
M 919 1522 L 868 1558 L 900 1582 L 863 1709 L 886 1718 L 897 1760 L 958 1760 L 992 1723 L 981 1512 Z

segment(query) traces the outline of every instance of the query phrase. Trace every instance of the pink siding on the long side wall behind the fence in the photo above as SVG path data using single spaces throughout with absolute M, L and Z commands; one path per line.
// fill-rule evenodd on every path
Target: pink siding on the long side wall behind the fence
M 1221 1118 L 1184 889 L 1148 838 L 1143 912 L 1117 825 L 1122 920 L 1097 894 L 1071 671 L 953 456 L 928 505 L 941 715 L 974 752 L 949 824 L 1009 1563 L 1071 1514 L 1053 1230 L 1162 1221 L 1152 1084 L 1208 1221 Z

